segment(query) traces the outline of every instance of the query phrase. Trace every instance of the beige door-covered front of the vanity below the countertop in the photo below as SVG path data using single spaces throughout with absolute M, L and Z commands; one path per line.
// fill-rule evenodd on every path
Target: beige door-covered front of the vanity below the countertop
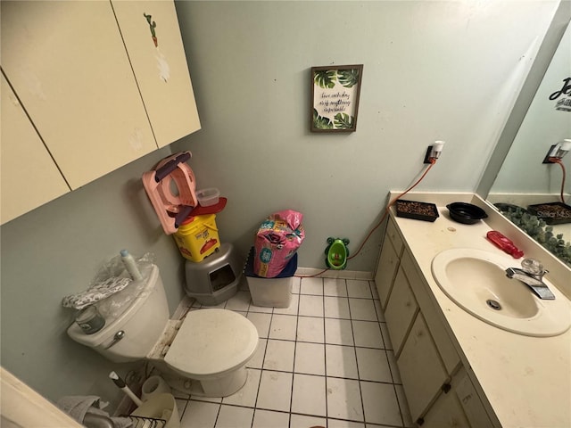
M 424 427 L 491 427 L 393 218 L 375 276 L 410 415 Z

